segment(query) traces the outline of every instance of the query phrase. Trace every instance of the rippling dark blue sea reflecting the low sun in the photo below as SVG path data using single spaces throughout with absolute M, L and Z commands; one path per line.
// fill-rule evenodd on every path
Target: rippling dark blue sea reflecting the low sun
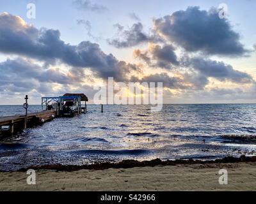
M 29 112 L 41 106 L 29 106 Z M 22 106 L 0 106 L 0 117 Z M 205 142 L 204 142 L 205 141 Z M 0 170 L 47 164 L 93 164 L 151 159 L 211 160 L 256 155 L 256 105 L 88 105 L 88 112 L 56 118 L 0 138 Z

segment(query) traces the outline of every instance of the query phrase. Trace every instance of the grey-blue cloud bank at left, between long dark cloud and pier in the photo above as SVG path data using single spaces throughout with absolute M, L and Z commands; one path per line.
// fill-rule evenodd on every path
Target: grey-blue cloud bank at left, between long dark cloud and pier
M 71 72 L 65 74 L 58 68 L 45 69 L 44 66 L 22 58 L 1 62 L 0 73 L 1 92 L 47 92 L 54 83 L 67 85 L 81 82 L 78 77 L 73 78 Z

